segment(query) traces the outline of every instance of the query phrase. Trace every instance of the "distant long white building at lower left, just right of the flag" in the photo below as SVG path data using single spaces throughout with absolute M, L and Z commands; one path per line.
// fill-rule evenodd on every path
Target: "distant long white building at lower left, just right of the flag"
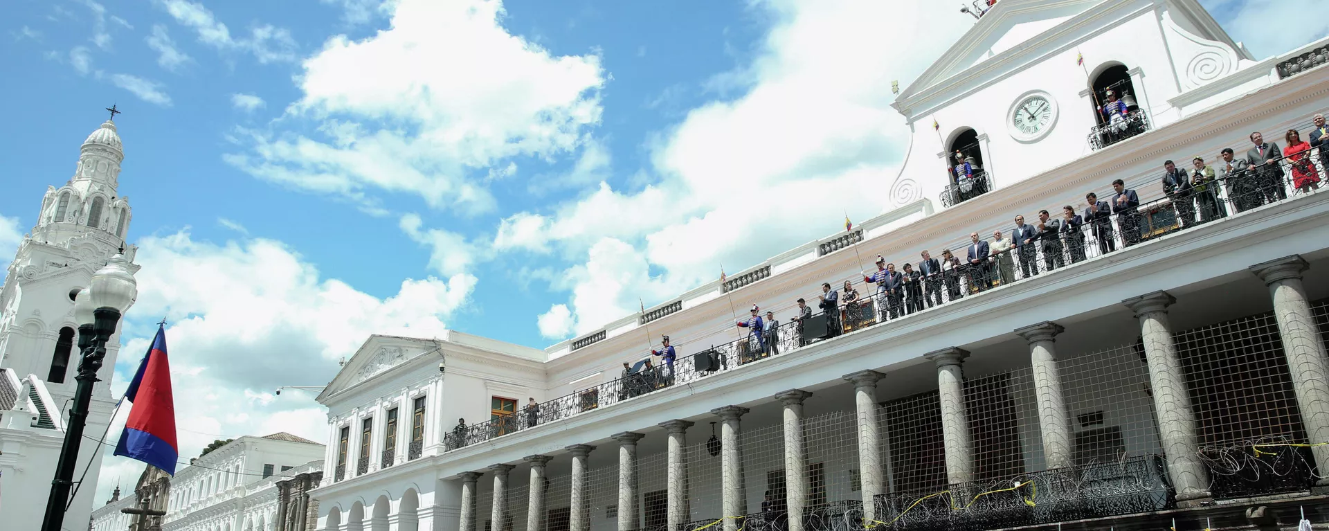
M 306 515 L 318 512 L 318 502 L 283 484 L 322 472 L 322 456 L 323 444 L 287 433 L 245 435 L 191 459 L 174 478 L 149 467 L 130 496 L 93 512 L 92 531 L 310 531 Z M 159 527 L 128 527 L 137 518 L 121 511 L 142 498 L 166 512 L 152 522 Z

